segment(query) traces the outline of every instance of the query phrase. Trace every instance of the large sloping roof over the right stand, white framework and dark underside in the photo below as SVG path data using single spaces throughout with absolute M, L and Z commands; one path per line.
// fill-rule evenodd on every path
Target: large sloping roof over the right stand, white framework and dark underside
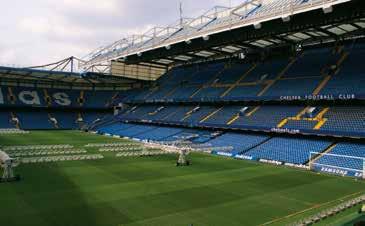
M 169 67 L 279 45 L 338 40 L 364 28 L 363 1 L 248 0 L 124 38 L 93 51 L 81 66 L 114 61 Z

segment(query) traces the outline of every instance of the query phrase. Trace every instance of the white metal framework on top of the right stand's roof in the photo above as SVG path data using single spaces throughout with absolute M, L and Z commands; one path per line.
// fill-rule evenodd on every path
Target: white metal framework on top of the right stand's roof
M 257 0 L 251 0 L 249 2 L 256 1 Z M 145 34 L 133 35 L 121 39 L 107 47 L 102 47 L 93 51 L 84 58 L 85 62 L 81 64 L 81 67 L 89 67 L 112 59 L 143 53 L 151 49 L 168 47 L 175 43 L 187 42 L 192 39 L 207 37 L 215 33 L 255 25 L 276 18 L 288 17 L 297 13 L 325 8 L 349 1 L 351 0 L 309 0 L 308 2 L 303 3 L 302 0 L 277 0 L 268 4 L 263 4 L 254 13 L 245 18 L 231 13 L 232 11 L 240 10 L 238 7 L 243 7 L 242 4 L 232 8 L 221 7 L 220 11 L 208 11 L 208 13 L 197 17 L 198 19 L 214 18 L 216 20 L 222 20 L 221 23 L 210 23 L 210 20 L 206 21 L 201 19 L 202 23 L 210 24 L 203 29 L 194 29 L 190 24 L 194 21 L 199 21 L 195 18 L 186 20 L 184 24 L 170 25 L 165 28 L 155 27 Z M 222 10 L 222 8 L 225 10 Z M 219 15 L 226 16 L 219 17 Z

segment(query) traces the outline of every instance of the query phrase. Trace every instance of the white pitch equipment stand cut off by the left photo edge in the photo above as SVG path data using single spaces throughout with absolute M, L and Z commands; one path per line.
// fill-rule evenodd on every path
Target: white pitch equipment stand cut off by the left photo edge
M 19 175 L 14 176 L 13 168 L 19 165 L 19 160 L 10 158 L 8 154 L 0 151 L 0 167 L 3 168 L 3 175 L 0 182 L 11 182 L 20 180 Z

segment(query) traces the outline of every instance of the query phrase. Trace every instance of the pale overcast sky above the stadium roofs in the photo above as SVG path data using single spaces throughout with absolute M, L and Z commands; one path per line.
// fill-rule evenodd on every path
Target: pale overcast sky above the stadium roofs
M 184 16 L 243 0 L 181 0 Z M 179 0 L 9 0 L 1 3 L 0 65 L 77 56 L 179 18 Z

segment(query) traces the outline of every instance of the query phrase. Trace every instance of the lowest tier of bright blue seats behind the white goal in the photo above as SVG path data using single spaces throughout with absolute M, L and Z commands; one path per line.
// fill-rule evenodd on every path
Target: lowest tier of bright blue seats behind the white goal
M 296 165 L 309 165 L 315 160 L 319 165 L 362 172 L 365 144 L 338 143 L 326 139 L 292 138 L 215 132 L 178 127 L 159 127 L 141 124 L 114 123 L 99 130 L 100 133 L 127 136 L 140 140 L 178 141 L 189 140 L 214 148 L 212 153 L 250 160 L 269 160 Z M 222 150 L 220 150 L 222 148 Z M 227 150 L 227 148 L 232 148 Z M 226 154 L 225 154 L 226 153 Z M 327 153 L 316 159 L 314 153 Z M 351 156 L 345 158 L 343 156 Z

